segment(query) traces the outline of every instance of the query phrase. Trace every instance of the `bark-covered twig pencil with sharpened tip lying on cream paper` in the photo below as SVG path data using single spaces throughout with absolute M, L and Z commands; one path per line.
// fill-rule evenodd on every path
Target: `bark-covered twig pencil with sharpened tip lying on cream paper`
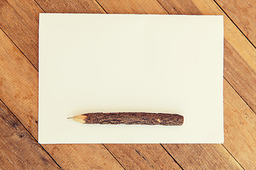
M 85 124 L 125 124 L 125 125 L 182 125 L 183 116 L 169 113 L 85 113 L 73 117 Z

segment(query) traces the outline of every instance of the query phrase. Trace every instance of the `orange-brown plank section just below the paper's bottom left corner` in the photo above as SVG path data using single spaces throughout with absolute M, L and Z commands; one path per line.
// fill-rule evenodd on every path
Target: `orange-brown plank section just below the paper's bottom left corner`
M 122 166 L 101 145 L 42 145 L 63 169 L 121 169 Z

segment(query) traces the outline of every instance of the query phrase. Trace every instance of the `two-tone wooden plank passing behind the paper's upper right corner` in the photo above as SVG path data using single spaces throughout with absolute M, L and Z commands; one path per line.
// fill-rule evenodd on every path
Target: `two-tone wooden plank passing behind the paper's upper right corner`
M 170 14 L 203 14 L 224 16 L 224 77 L 256 112 L 256 49 L 225 16 L 214 1 L 159 0 Z M 189 8 L 183 8 L 189 6 Z M 235 36 L 234 36 L 235 35 Z

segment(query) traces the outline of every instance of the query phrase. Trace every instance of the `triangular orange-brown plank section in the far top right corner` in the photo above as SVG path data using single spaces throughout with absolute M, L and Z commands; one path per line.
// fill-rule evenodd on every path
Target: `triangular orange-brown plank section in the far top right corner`
M 256 6 L 255 0 L 215 0 L 232 19 L 242 33 L 256 46 Z

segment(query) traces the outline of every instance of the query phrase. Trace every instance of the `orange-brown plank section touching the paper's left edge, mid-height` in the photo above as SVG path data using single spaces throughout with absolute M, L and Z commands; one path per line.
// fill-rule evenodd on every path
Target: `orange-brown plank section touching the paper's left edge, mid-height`
M 1 30 L 0 42 L 0 98 L 38 138 L 38 72 Z

